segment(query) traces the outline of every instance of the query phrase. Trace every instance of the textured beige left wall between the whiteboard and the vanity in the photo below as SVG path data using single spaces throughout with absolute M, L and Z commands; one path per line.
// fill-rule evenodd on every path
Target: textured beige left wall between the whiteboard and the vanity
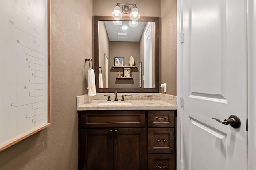
M 78 169 L 76 96 L 87 93 L 92 0 L 51 4 L 52 125 L 0 152 L 1 170 Z

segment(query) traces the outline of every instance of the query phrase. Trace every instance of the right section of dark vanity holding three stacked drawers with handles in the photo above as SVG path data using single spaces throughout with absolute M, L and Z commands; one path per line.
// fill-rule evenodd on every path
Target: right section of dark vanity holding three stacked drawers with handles
M 176 111 L 148 111 L 148 169 L 176 169 Z

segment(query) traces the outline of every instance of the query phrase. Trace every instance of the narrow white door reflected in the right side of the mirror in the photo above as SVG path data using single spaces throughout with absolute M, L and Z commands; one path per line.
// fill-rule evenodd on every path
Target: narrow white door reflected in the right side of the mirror
M 144 32 L 144 88 L 152 88 L 152 31 L 148 22 Z

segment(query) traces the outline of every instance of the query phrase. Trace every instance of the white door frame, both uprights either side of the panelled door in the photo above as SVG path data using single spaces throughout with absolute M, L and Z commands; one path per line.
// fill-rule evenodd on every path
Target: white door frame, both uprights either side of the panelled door
M 248 100 L 248 170 L 256 167 L 256 2 L 247 3 L 247 100 Z M 183 138 L 182 138 L 182 0 L 177 0 L 177 170 L 182 170 Z

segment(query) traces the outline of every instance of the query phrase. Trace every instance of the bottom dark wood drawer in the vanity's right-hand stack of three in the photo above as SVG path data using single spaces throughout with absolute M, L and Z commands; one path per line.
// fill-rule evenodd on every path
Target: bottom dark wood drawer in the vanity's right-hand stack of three
M 175 170 L 175 154 L 149 154 L 148 170 Z

